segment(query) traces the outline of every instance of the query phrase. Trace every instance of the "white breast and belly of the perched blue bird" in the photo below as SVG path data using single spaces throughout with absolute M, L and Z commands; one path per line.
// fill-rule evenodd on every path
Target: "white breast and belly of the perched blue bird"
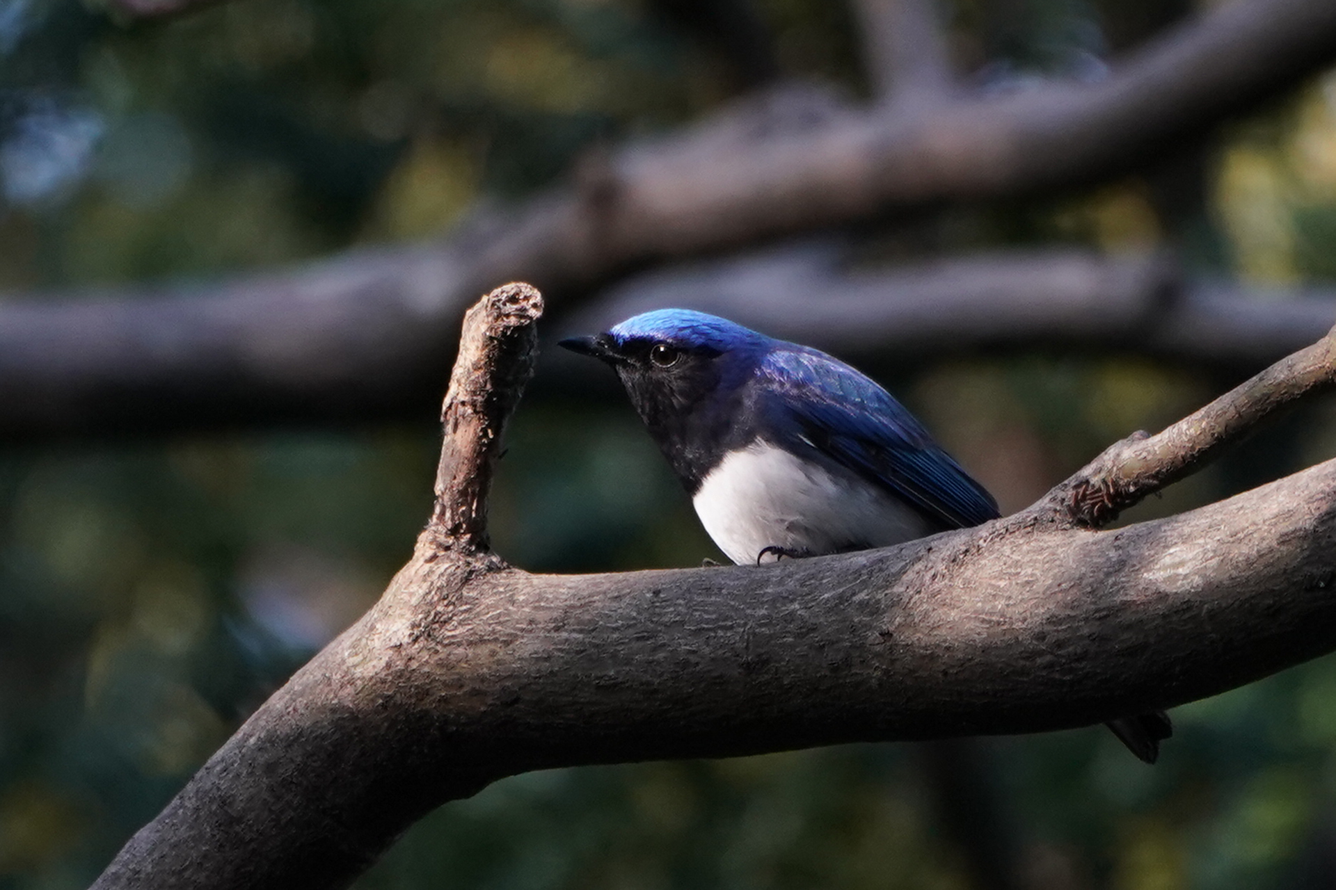
M 739 564 L 755 563 L 766 547 L 820 555 L 931 532 L 915 510 L 854 472 L 834 475 L 766 442 L 724 456 L 692 503 L 709 536 Z

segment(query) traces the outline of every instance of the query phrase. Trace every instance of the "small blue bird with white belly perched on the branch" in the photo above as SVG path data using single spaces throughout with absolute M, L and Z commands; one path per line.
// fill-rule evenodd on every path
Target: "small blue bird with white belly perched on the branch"
M 737 564 L 888 547 L 1001 515 L 890 392 L 819 350 L 680 308 L 558 346 L 612 366 Z M 1160 711 L 1108 726 L 1146 763 L 1173 731 Z

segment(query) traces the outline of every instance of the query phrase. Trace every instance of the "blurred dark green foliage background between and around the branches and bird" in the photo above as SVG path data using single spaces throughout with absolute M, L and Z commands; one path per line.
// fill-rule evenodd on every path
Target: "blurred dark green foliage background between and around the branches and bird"
M 126 24 L 72 0 L 0 0 L 0 300 L 425 238 L 478 201 L 558 181 L 582 152 L 667 132 L 776 76 L 870 92 L 842 3 L 756 0 L 770 45 L 751 57 L 712 40 L 693 8 L 239 0 Z M 1022 89 L 1100 77 L 1197 7 L 942 11 L 963 76 Z M 950 208 L 930 238 L 894 226 L 864 238 L 892 259 L 923 244 L 1172 247 L 1196 275 L 1268 288 L 1336 275 L 1336 76 L 1190 155 L 1172 212 L 1164 176 L 1136 173 Z M 1005 510 L 1236 379 L 1061 344 L 874 370 Z M 0 887 L 86 886 L 374 600 L 426 519 L 437 447 L 429 408 L 342 428 L 0 446 Z M 1332 454 L 1336 412 L 1317 406 L 1132 519 Z M 611 386 L 538 380 L 497 486 L 496 546 L 525 568 L 719 556 Z M 991 881 L 943 814 L 931 746 L 878 745 L 517 777 L 422 821 L 357 886 L 1327 886 L 1336 662 L 1173 717 L 1153 769 L 1096 729 L 963 749 L 981 777 L 971 806 L 998 814 L 989 842 L 1014 866 Z

